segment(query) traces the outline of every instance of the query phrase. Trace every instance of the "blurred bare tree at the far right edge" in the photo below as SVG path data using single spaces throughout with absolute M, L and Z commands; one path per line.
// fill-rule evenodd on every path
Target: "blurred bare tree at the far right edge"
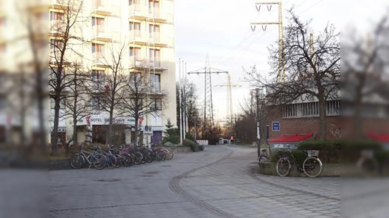
M 386 40 L 389 36 L 389 16 L 382 17 L 367 36 L 361 36 L 356 29 L 345 35 L 341 52 L 342 108 L 346 111 L 352 108 L 354 113 L 344 114 L 353 117 L 353 125 L 352 130 L 344 131 L 342 137 L 359 139 L 363 135 L 364 111 L 376 111 L 389 100 L 389 43 Z

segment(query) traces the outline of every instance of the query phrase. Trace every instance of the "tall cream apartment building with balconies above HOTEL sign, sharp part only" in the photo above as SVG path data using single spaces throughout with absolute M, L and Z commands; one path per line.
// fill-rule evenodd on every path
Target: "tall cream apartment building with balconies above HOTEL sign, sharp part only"
M 72 0 L 51 0 L 51 26 L 63 19 L 62 10 L 70 2 Z M 74 30 L 75 35 L 82 36 L 87 42 L 75 48 L 83 57 L 80 59 L 71 53 L 67 56 L 72 62 L 81 63 L 84 69 L 90 69 L 93 80 L 105 87 L 104 75 L 112 73 L 109 66 L 115 65 L 110 56 L 118 54 L 124 46 L 120 64 L 122 73 L 145 76 L 151 85 L 147 100 L 154 102 L 156 107 L 156 112 L 145 115 L 139 123 L 141 131 L 145 126 L 151 126 L 153 131 L 152 135 L 143 135 L 144 143 L 160 141 L 167 120 L 170 118 L 174 122 L 176 117 L 173 10 L 172 0 L 84 0 L 81 28 Z M 55 29 L 50 31 L 51 44 L 55 44 Z M 77 121 L 77 138 L 79 142 L 91 140 L 104 143 L 109 113 L 100 107 L 101 96 L 98 93 L 92 96 L 91 101 L 91 113 Z M 162 101 L 165 107 L 162 107 Z M 65 104 L 61 107 L 60 114 L 64 114 L 67 108 Z M 135 119 L 114 114 L 114 121 L 126 126 L 125 141 L 133 141 Z M 51 130 L 53 124 L 54 100 L 51 100 Z M 59 138 L 64 142 L 66 135 L 73 134 L 72 119 L 60 118 L 59 131 Z

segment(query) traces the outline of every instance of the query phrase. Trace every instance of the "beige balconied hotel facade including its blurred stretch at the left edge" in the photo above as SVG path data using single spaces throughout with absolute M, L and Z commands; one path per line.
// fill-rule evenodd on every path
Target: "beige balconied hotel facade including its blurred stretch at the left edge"
M 73 12 L 81 9 L 76 15 L 74 25 L 70 28 L 69 33 L 72 37 L 68 43 L 71 49 L 65 52 L 65 62 L 69 66 L 77 63 L 83 71 L 93 74 L 103 72 L 109 75 L 117 62 L 119 52 L 122 51 L 119 64 L 121 73 L 142 73 L 152 85 L 150 92 L 147 93 L 147 100 L 161 98 L 165 102 L 165 107 L 161 110 L 144 116 L 142 126 L 152 126 L 152 130 L 162 131 L 169 118 L 175 124 L 174 7 L 172 0 L 35 0 L 26 1 L 21 5 L 23 7 L 17 7 L 8 1 L 0 0 L 0 18 L 7 17 L 7 24 L 10 24 L 8 20 L 12 20 L 12 23 L 18 20 L 20 25 L 20 28 L 14 25 L 9 27 L 10 25 L 2 25 L 3 23 L 0 22 L 0 70 L 17 72 L 20 71 L 21 62 L 23 66 L 28 66 L 28 63 L 32 62 L 34 55 L 31 52 L 31 40 L 28 40 L 27 36 L 24 41 L 19 40 L 18 43 L 10 43 L 12 41 L 7 40 L 14 38 L 14 35 L 29 33 L 27 26 L 32 26 L 34 35 L 38 36 L 34 37 L 34 42 L 46 43 L 46 45 L 47 41 L 50 42 L 50 46 L 46 50 L 40 49 L 40 53 L 36 56 L 40 57 L 40 62 L 47 63 L 48 61 L 51 67 L 55 67 L 60 58 L 53 45 L 63 40 L 62 33 L 66 28 L 61 25 L 63 18 L 67 17 L 66 13 L 69 13 L 69 9 Z M 22 8 L 28 16 L 21 18 L 20 13 L 14 13 L 12 16 L 12 11 L 22 11 Z M 27 25 L 31 22 L 26 22 L 26 20 L 33 22 Z M 13 28 L 18 31 L 9 31 L 8 34 L 4 34 L 4 28 Z M 22 52 L 23 49 L 24 52 Z M 47 53 L 49 53 L 48 59 Z M 65 74 L 69 70 L 67 64 L 64 65 Z M 30 71 L 33 71 L 31 66 L 25 68 L 31 68 Z M 49 92 L 52 91 L 53 89 L 49 88 Z M 71 90 L 65 91 L 70 92 Z M 91 97 L 84 98 L 90 99 Z M 93 102 L 91 104 L 93 105 Z M 47 113 L 49 117 L 47 128 L 51 130 L 54 124 L 52 100 L 48 100 L 46 105 L 47 111 L 50 111 Z M 66 107 L 60 109 L 61 115 L 67 112 Z M 36 109 L 30 114 L 37 114 Z M 119 112 L 115 112 L 114 119 L 125 120 L 123 124 L 129 126 L 130 129 L 134 126 L 133 118 L 128 114 L 122 112 L 118 114 Z M 90 116 L 92 126 L 107 125 L 108 113 L 106 111 L 93 107 L 88 116 Z M 0 116 L 0 124 L 1 118 L 2 116 Z M 32 116 L 28 123 L 31 124 L 30 126 L 37 126 L 36 115 Z M 80 118 L 77 123 L 77 126 L 80 126 L 78 138 L 81 141 L 86 138 L 86 131 L 82 128 L 84 125 L 86 125 L 85 117 Z M 73 120 L 69 116 L 62 116 L 59 120 L 59 129 L 63 132 L 61 135 L 72 135 Z M 144 141 L 150 142 L 151 138 L 151 136 L 144 137 Z M 126 141 L 128 142 L 128 139 Z

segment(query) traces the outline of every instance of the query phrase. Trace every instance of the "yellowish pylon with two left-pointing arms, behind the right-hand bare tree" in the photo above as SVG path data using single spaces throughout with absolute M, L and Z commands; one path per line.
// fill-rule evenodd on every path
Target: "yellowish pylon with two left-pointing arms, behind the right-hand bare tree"
M 266 5 L 266 8 L 270 12 L 272 5 L 278 6 L 278 21 L 277 22 L 251 22 L 251 30 L 254 32 L 256 25 L 262 25 L 262 30 L 266 31 L 267 25 L 278 25 L 278 41 L 279 41 L 279 74 L 277 75 L 277 81 L 285 81 L 285 59 L 284 59 L 284 28 L 282 26 L 282 2 L 257 2 L 255 7 L 259 12 L 261 5 Z

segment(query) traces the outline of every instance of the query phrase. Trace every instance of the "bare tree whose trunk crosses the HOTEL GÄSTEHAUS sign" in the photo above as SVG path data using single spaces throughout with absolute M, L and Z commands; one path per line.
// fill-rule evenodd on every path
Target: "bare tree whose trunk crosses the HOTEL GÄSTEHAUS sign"
M 126 97 L 125 87 L 128 83 L 128 68 L 123 64 L 125 51 L 126 43 L 112 42 L 109 55 L 97 54 L 103 60 L 103 65 L 107 67 L 107 71 L 101 72 L 103 76 L 100 75 L 100 78 L 94 80 L 95 93 L 93 93 L 92 109 L 106 111 L 109 114 L 107 144 L 112 144 L 114 116 L 124 114 L 124 111 L 120 109 L 120 105 Z

